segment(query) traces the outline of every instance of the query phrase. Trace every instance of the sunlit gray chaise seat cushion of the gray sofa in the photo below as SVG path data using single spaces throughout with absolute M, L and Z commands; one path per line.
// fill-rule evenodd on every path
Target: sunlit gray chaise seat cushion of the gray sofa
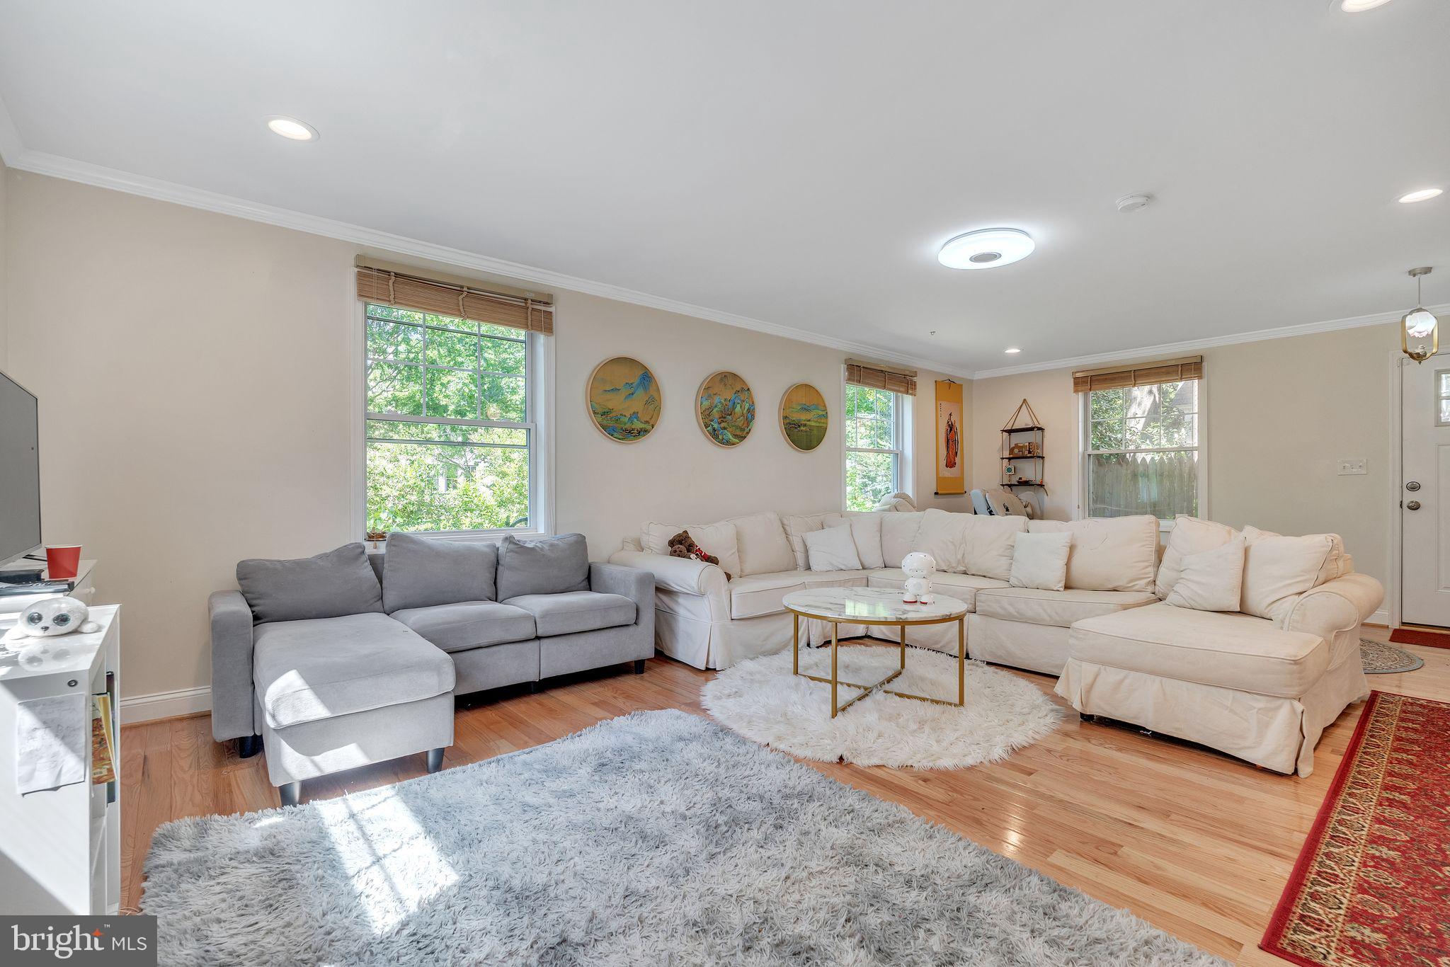
M 367 567 L 367 561 L 362 561 Z M 274 729 L 452 692 L 452 660 L 387 615 L 257 626 L 252 678 Z

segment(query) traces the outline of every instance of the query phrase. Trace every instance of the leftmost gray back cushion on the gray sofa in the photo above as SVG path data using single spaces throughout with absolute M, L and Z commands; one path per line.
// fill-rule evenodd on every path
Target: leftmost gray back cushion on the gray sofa
M 383 586 L 361 544 L 296 561 L 242 561 L 236 565 L 236 586 L 258 622 L 383 610 Z

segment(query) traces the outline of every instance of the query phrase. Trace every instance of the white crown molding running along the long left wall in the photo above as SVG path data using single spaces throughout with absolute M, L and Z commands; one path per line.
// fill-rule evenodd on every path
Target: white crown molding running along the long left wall
M 3 125 L 3 122 L 4 117 L 0 116 L 0 125 Z M 0 135 L 3 135 L 3 130 L 0 130 Z M 380 252 L 409 255 L 455 268 L 487 273 L 490 275 L 502 275 L 516 283 L 539 286 L 550 290 L 563 289 L 589 296 L 600 296 L 603 299 L 626 302 L 635 306 L 661 309 L 682 316 L 693 316 L 696 319 L 719 322 L 726 326 L 738 326 L 753 332 L 763 332 L 783 339 L 793 339 L 796 342 L 840 349 L 841 352 L 866 355 L 867 358 L 880 360 L 882 362 L 915 365 L 924 370 L 942 373 L 945 375 L 967 378 L 967 373 L 964 370 L 942 367 L 940 360 L 925 360 L 905 355 L 867 342 L 840 339 L 818 332 L 809 332 L 806 329 L 796 329 L 795 326 L 767 322 L 766 319 L 754 319 L 751 316 L 722 312 L 708 306 L 696 306 L 677 299 L 666 299 L 663 296 L 654 296 L 634 289 L 625 289 L 622 286 L 612 286 L 592 278 L 566 275 L 564 273 L 555 273 L 548 268 L 510 262 L 502 258 L 492 258 L 489 255 L 480 255 L 460 248 L 434 245 L 432 242 L 423 242 L 403 235 L 393 235 L 392 232 L 380 232 L 361 225 L 325 219 L 316 215 L 294 212 L 291 209 L 260 204 L 257 202 L 248 202 L 245 199 L 219 194 L 216 191 L 191 188 L 183 184 L 175 184 L 174 181 L 149 178 L 139 174 L 130 174 L 129 171 L 117 171 L 115 168 L 106 168 L 86 161 L 75 161 L 72 158 L 62 158 L 42 151 L 20 151 L 13 161 L 10 155 L 7 155 L 6 164 L 12 168 L 29 171 L 32 174 L 44 174 L 52 178 L 78 181 L 81 184 L 110 188 L 113 191 L 125 191 L 126 194 L 138 194 L 158 202 L 184 204 L 204 212 L 231 215 L 251 222 L 262 222 L 265 225 L 276 225 L 278 228 L 287 228 L 297 232 L 307 232 L 309 235 L 335 238 Z

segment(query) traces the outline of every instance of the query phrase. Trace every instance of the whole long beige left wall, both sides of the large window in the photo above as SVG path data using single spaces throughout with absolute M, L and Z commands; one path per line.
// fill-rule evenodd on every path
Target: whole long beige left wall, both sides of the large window
M 358 538 L 357 246 L 19 171 L 4 180 L 7 370 L 41 397 L 45 535 L 83 542 L 102 560 L 100 600 L 125 603 L 126 696 L 204 686 L 206 596 L 235 587 L 239 558 Z M 555 296 L 555 529 L 581 531 L 592 557 L 650 519 L 841 506 L 842 352 Z M 660 428 L 631 445 L 602 436 L 583 399 L 593 367 L 624 352 L 654 368 L 666 397 Z M 718 368 L 750 380 L 758 413 L 728 451 L 690 410 Z M 798 381 L 816 384 L 834 418 L 811 454 L 776 419 Z

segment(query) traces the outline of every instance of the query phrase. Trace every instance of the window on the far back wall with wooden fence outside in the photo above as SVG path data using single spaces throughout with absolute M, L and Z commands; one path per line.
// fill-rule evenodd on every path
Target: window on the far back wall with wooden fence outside
M 1083 516 L 1196 516 L 1204 460 L 1198 378 L 1083 393 Z

